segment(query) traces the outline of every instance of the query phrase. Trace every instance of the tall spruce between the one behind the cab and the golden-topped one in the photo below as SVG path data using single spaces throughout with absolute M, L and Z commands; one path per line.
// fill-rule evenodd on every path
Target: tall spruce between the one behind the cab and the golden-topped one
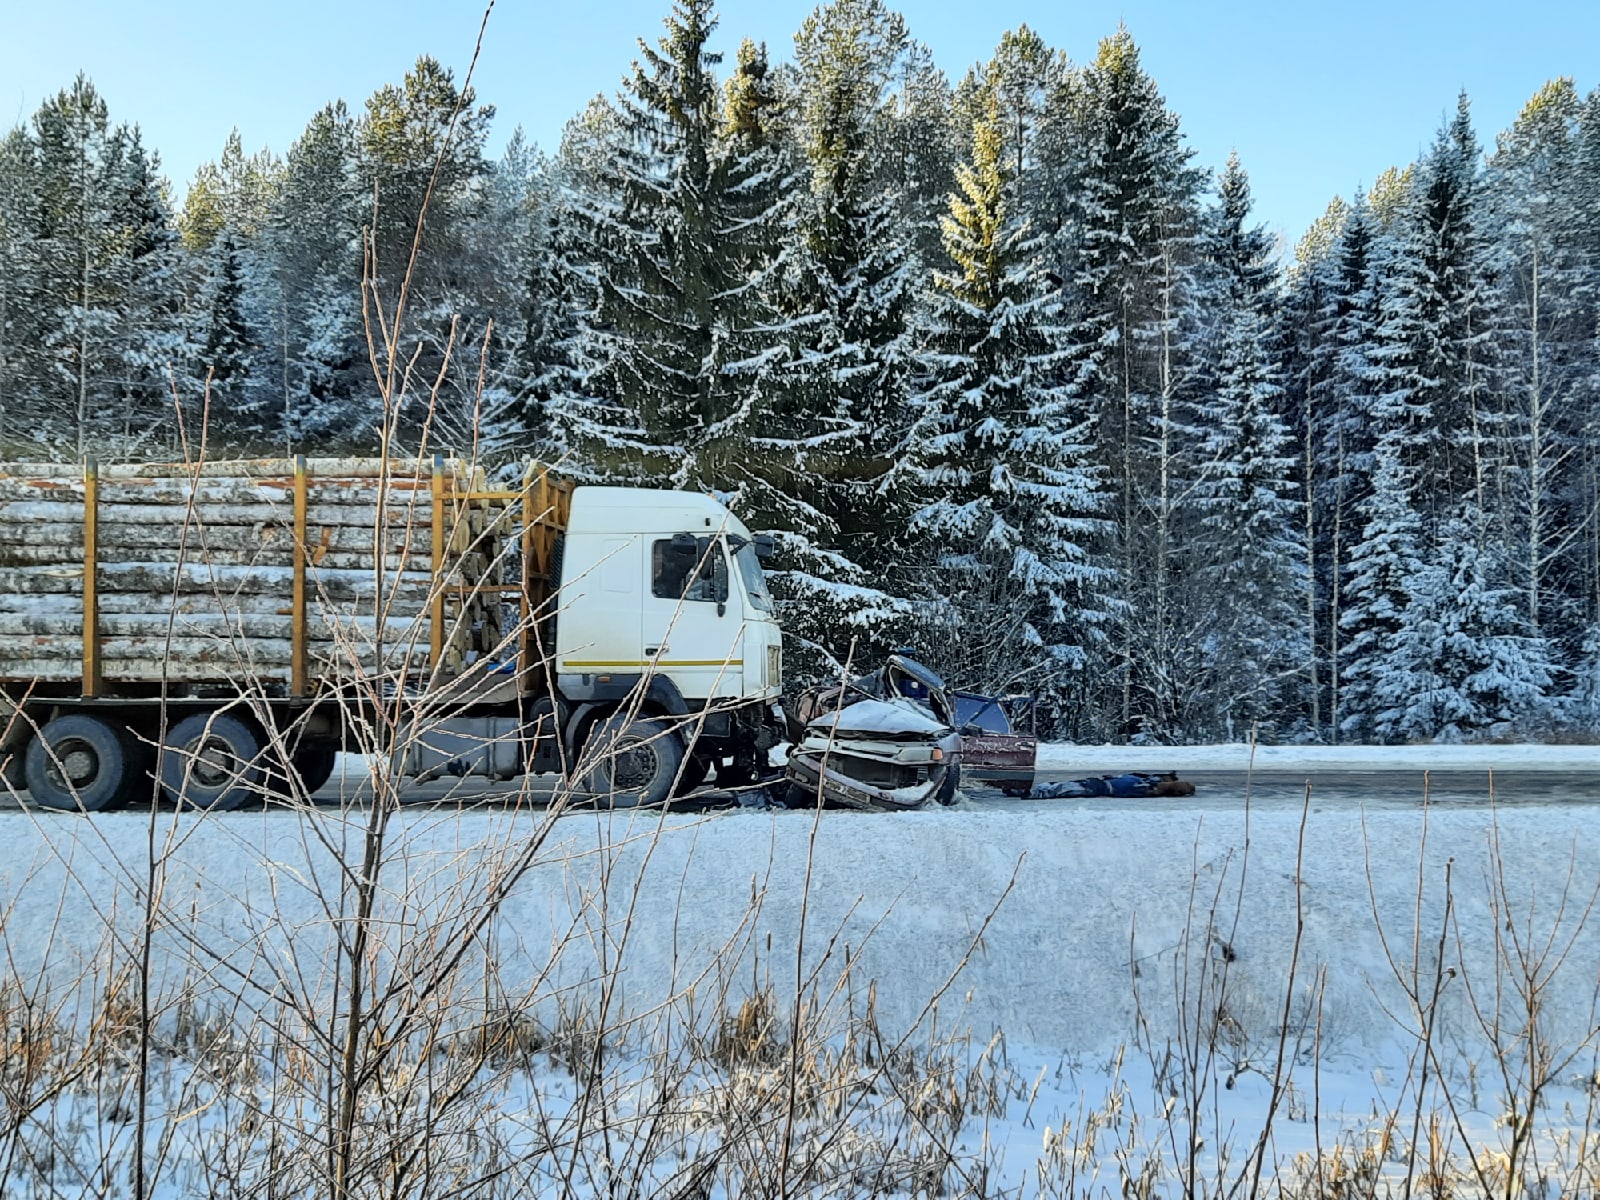
M 778 578 L 798 638 L 872 656 L 901 637 L 899 547 L 914 506 L 907 406 L 915 229 L 874 154 L 886 98 L 912 53 L 882 0 L 834 0 L 795 35 L 795 138 L 810 189 L 784 248 L 794 360 L 766 461 L 786 480 Z M 837 670 L 826 654 L 798 675 Z

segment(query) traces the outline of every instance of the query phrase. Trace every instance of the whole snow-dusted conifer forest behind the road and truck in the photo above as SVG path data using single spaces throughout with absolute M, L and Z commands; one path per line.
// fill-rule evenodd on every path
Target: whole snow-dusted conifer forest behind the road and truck
M 554 154 L 491 160 L 422 58 L 282 157 L 232 138 L 181 211 L 80 77 L 0 142 L 0 451 L 387 419 L 714 490 L 778 534 L 792 675 L 910 643 L 1082 739 L 1595 728 L 1600 91 L 1493 147 L 1461 96 L 1288 256 L 1125 29 L 952 83 L 882 0 L 784 62 L 714 27 L 677 0 Z

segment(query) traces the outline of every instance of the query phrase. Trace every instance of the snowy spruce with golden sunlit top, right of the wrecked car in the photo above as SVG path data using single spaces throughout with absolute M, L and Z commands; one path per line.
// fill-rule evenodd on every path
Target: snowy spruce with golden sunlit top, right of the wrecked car
M 997 91 L 986 88 L 944 219 L 952 270 L 934 277 L 918 397 L 928 501 L 912 528 L 938 581 L 923 603 L 941 669 L 994 691 L 1026 677 L 1059 702 L 1093 613 L 1098 573 L 1082 542 L 1099 496 L 1061 386 L 1046 243 L 1018 211 Z

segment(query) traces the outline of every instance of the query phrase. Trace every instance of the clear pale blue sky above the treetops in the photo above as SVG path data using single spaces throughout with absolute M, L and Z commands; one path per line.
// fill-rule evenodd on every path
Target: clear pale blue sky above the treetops
M 891 0 L 893 2 L 893 0 Z M 554 147 L 597 91 L 614 91 L 635 38 L 661 30 L 669 0 L 499 0 L 478 62 L 478 96 L 499 109 L 494 149 L 515 125 Z M 810 0 L 723 0 L 718 40 L 792 51 Z M 482 0 L 13 0 L 0 38 L 0 126 L 85 70 L 117 120 L 136 122 L 182 192 L 235 125 L 246 149 L 288 149 L 322 104 L 352 109 L 421 53 L 466 72 Z M 1198 162 L 1237 149 L 1258 216 L 1293 243 L 1326 206 L 1432 139 L 1456 93 L 1478 136 L 1517 115 L 1547 78 L 1600 83 L 1594 0 L 1346 0 L 1342 5 L 1130 0 L 906 0 L 912 34 L 954 78 L 1000 34 L 1032 26 L 1072 59 L 1125 21 Z M 731 59 L 731 53 L 730 53 Z

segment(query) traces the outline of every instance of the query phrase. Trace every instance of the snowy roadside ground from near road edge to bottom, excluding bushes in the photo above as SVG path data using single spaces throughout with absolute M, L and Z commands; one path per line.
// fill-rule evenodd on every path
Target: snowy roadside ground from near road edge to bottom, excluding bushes
M 813 1053 L 822 1078 L 838 1082 L 816 1086 L 840 1090 L 851 1134 L 819 1126 L 811 1144 L 858 1155 L 829 1170 L 909 1171 L 907 1155 L 939 1163 L 955 1150 L 968 1165 L 960 1170 L 987 1162 L 990 1182 L 1024 1195 L 1115 1194 L 1123 1170 L 1149 1171 L 1141 1195 L 1168 1195 L 1190 1190 L 1182 1171 L 1237 1171 L 1270 1130 L 1269 1178 L 1304 1184 L 1302 1157 L 1318 1150 L 1347 1157 L 1328 1166 L 1334 1174 L 1403 1170 L 1413 1106 L 1426 1104 L 1451 1114 L 1435 1131 L 1451 1141 L 1451 1170 L 1466 1186 L 1480 1150 L 1504 1152 L 1501 1118 L 1515 1102 L 1499 1072 L 1522 1053 L 1520 944 L 1562 947 L 1558 962 L 1534 965 L 1534 1050 L 1558 1064 L 1533 1109 L 1534 1138 L 1541 1170 L 1578 1178 L 1560 1155 L 1600 1094 L 1590 1086 L 1600 962 L 1600 926 L 1586 909 L 1600 885 L 1592 814 L 1589 805 L 1339 810 L 1310 813 L 1304 829 L 1290 811 L 1074 803 L 1024 819 L 998 806 L 821 819 L 573 814 L 482 939 L 494 947 L 494 995 L 549 1030 L 534 1038 L 549 1048 L 526 1069 L 485 1067 L 493 1086 L 459 1136 L 504 1138 L 507 1154 L 526 1155 L 530 1192 L 562 1186 L 560 1157 L 526 1147 L 587 1146 L 565 1133 L 584 1088 L 563 1066 L 571 1058 L 560 1030 L 595 1011 L 610 982 L 627 1002 L 627 1022 L 614 1018 L 606 1101 L 624 1128 L 653 1112 L 662 1030 L 709 1024 L 683 1045 L 725 1046 L 685 1062 L 672 1101 L 686 1115 L 667 1128 L 686 1131 L 667 1139 L 670 1152 L 635 1163 L 662 1194 L 696 1147 L 733 1136 L 717 1114 L 731 1114 L 730 1128 L 762 1128 L 741 1106 L 782 1096 L 773 1045 L 757 1038 L 728 1051 L 714 1032 L 763 990 L 781 1018 L 795 997 L 818 1016 Z M 400 814 L 378 910 L 390 950 L 413 968 L 408 954 L 429 962 L 438 931 L 470 912 L 539 822 L 528 811 Z M 147 829 L 131 813 L 14 821 L 0 862 L 0 949 L 11 971 L 40 990 L 70 986 L 85 965 L 138 946 Z M 299 997 L 291 1018 L 323 1011 L 347 920 L 339 862 L 357 853 L 358 819 L 163 816 L 162 832 L 171 846 L 165 891 L 181 910 L 155 938 L 157 994 L 258 1030 L 246 1045 L 270 1045 L 261 1029 L 293 1024 L 274 1008 L 285 989 Z M 440 1002 L 446 1032 L 482 1011 L 474 997 L 485 982 L 470 971 L 453 982 Z M 1435 1030 L 1429 1059 L 1418 1054 L 1413 995 Z M 85 1000 L 77 1016 L 64 1013 L 67 1026 L 101 1011 Z M 907 1048 L 883 1054 L 902 1035 Z M 171 1104 L 184 1147 L 174 1154 L 197 1171 L 195 1186 L 173 1195 L 205 1194 L 198 1173 L 229 1136 L 224 1117 L 270 1110 L 294 1083 L 299 1053 L 264 1058 L 243 1072 L 259 1083 L 230 1086 L 214 1106 L 216 1072 L 202 1064 L 184 1077 L 189 1067 L 173 1061 L 174 1098 L 197 1090 Z M 1430 1062 L 1426 1077 L 1421 1061 Z M 955 1107 L 939 1115 L 952 1094 Z M 104 1117 L 118 1104 L 115 1091 L 74 1094 L 51 1107 L 51 1136 L 86 1131 L 83 1158 L 98 1162 L 96 1138 L 125 1141 L 125 1126 Z M 1189 1144 L 1205 1147 L 1194 1162 L 1176 1152 Z M 629 1154 L 653 1146 L 640 1138 Z M 888 1189 L 904 1192 L 915 1189 Z M 731 1184 L 712 1192 L 738 1194 Z

